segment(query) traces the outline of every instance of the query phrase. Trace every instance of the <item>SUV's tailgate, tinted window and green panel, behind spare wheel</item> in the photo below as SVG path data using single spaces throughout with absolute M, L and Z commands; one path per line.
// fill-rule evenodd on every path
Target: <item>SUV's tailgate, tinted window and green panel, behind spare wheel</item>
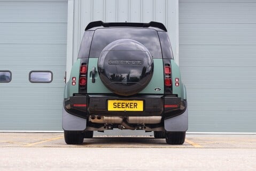
M 146 35 L 146 36 L 145 36 Z M 88 94 L 111 94 L 98 75 L 98 58 L 100 53 L 109 43 L 120 40 L 130 39 L 142 43 L 151 53 L 153 58 L 153 75 L 148 86 L 139 94 L 164 94 L 164 75 L 161 46 L 158 33 L 154 29 L 143 28 L 101 28 L 96 29 L 91 43 L 89 58 L 89 79 Z M 92 70 L 96 69 L 95 82 L 92 82 Z

